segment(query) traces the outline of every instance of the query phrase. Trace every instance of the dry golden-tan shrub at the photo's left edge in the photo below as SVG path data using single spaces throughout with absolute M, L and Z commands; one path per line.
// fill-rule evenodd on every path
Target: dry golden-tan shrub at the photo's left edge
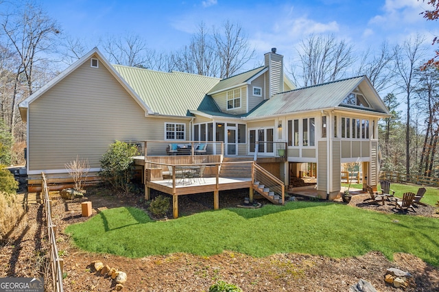
M 25 224 L 27 220 L 21 219 L 23 214 L 23 205 L 19 204 L 16 194 L 0 192 L 0 239 L 7 239 L 20 222 Z

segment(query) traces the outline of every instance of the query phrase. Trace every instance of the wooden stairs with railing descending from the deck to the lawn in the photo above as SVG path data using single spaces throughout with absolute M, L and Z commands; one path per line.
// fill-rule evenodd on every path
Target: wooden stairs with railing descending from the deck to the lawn
M 253 167 L 252 188 L 276 205 L 285 204 L 285 184 L 257 163 Z

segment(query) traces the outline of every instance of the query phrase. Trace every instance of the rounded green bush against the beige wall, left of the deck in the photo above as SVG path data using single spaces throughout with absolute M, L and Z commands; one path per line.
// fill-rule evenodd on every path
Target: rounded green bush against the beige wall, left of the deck
M 134 145 L 116 141 L 110 145 L 100 160 L 102 170 L 99 171 L 99 176 L 117 190 L 130 193 L 134 175 L 132 157 L 136 154 L 137 148 Z

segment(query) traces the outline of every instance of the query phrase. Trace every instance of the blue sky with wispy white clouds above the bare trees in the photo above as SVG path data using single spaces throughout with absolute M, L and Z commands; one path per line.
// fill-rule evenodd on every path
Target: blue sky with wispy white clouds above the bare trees
M 420 12 L 427 8 L 417 0 L 299 0 L 299 1 L 130 1 L 41 0 L 43 8 L 60 23 L 62 31 L 86 40 L 91 47 L 109 34 L 138 34 L 158 51 L 189 44 L 203 21 L 208 27 L 227 19 L 239 21 L 257 56 L 277 47 L 292 58 L 298 42 L 309 34 L 332 33 L 355 49 L 379 47 L 383 40 L 401 42 L 416 33 L 428 44 L 438 23 L 427 22 Z M 431 46 L 433 52 L 434 47 Z M 433 54 L 433 53 L 432 53 Z

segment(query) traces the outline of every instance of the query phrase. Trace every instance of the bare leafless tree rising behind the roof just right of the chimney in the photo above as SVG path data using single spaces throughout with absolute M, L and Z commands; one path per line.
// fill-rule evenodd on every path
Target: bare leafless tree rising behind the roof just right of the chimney
M 332 34 L 311 34 L 302 40 L 297 50 L 299 60 L 290 69 L 294 82 L 298 86 L 311 86 L 344 77 L 355 61 L 352 51 L 351 45 L 345 40 L 337 41 Z

